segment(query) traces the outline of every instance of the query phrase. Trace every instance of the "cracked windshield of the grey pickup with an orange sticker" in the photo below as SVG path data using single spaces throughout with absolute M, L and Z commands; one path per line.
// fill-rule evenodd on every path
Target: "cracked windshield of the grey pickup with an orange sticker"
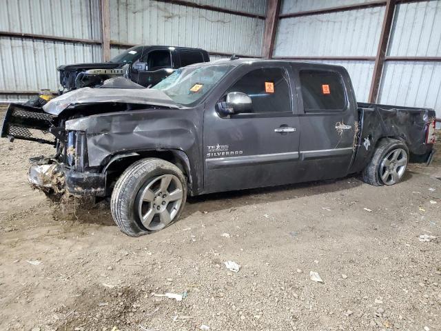
M 180 68 L 153 88 L 162 90 L 174 102 L 188 106 L 212 90 L 232 68 L 227 64 Z

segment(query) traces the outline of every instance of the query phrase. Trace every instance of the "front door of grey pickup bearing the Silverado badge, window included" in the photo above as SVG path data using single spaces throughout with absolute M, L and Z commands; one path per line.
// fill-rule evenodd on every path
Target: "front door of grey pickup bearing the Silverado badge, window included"
M 291 68 L 260 64 L 238 69 L 228 92 L 243 92 L 252 109 L 229 117 L 204 114 L 206 192 L 258 188 L 295 181 L 299 119 Z

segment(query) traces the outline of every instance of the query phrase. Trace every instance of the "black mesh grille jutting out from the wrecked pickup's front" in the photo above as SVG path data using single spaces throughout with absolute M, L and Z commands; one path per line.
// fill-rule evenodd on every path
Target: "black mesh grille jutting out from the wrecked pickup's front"
M 49 132 L 51 127 L 52 115 L 44 112 L 43 108 L 11 103 L 3 120 L 1 137 L 10 141 L 21 139 L 55 145 L 55 137 Z

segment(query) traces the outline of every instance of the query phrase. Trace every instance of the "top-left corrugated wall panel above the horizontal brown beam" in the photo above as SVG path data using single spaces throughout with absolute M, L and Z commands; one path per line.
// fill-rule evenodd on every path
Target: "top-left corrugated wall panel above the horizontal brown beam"
M 99 40 L 99 0 L 2 0 L 0 30 Z

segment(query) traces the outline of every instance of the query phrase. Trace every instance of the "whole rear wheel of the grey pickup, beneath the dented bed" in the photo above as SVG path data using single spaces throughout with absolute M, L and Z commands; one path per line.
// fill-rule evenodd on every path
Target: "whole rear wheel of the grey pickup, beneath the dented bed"
M 393 158 L 397 156 L 397 160 Z M 399 183 L 407 168 L 409 150 L 405 143 L 397 139 L 382 139 L 371 161 L 362 171 L 362 179 L 365 183 L 382 186 Z

